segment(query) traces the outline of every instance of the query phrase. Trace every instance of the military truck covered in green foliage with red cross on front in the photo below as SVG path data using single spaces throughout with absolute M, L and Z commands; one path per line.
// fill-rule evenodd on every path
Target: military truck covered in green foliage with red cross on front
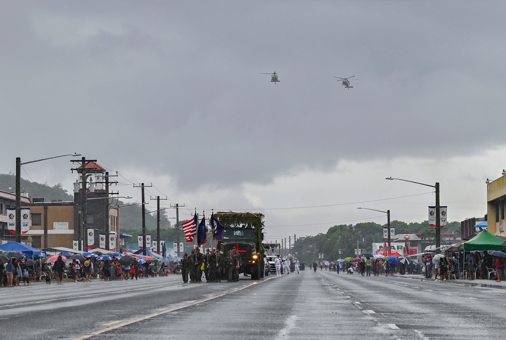
M 217 249 L 226 256 L 233 247 L 241 257 L 239 274 L 248 274 L 252 280 L 264 277 L 264 215 L 259 212 L 217 212 L 216 218 L 225 227 Z

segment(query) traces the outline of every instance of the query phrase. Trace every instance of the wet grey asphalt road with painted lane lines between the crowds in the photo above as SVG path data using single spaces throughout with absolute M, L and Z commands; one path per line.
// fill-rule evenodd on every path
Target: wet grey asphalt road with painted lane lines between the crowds
M 2 338 L 501 338 L 506 290 L 312 271 L 183 284 L 180 276 L 0 289 Z

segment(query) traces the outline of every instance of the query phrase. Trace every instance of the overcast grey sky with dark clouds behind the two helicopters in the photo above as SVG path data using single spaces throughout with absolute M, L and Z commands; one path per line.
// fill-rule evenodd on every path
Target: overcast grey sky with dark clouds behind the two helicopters
M 0 6 L 2 173 L 77 152 L 122 196 L 260 211 L 279 241 L 386 223 L 359 206 L 427 220 L 433 189 L 390 176 L 440 182 L 449 221 L 483 217 L 506 167 L 504 2 Z M 22 177 L 72 192 L 71 158 Z

